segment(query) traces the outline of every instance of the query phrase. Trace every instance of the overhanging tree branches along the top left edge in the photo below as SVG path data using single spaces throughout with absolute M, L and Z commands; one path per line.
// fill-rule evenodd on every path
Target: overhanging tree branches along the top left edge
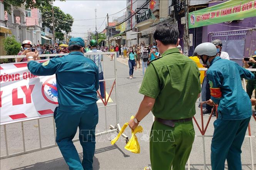
M 10 13 L 10 6 L 13 7 L 21 7 L 21 5 L 25 4 L 25 8 L 38 8 L 42 9 L 42 7 L 51 7 L 55 0 L 3 0 L 3 5 L 5 7 L 5 11 Z M 64 0 L 60 0 L 64 1 Z

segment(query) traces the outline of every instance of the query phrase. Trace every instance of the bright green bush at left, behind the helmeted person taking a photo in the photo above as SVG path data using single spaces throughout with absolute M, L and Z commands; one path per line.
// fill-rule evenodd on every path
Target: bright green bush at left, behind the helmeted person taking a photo
M 6 54 L 9 55 L 17 55 L 20 52 L 21 44 L 16 41 L 15 36 L 7 36 L 3 40 L 3 48 L 6 51 Z M 5 63 L 14 62 L 15 59 L 9 58 L 4 59 Z

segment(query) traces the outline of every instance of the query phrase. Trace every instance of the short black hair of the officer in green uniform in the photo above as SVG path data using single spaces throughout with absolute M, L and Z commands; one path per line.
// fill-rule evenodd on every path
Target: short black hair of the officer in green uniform
M 176 45 L 179 39 L 179 30 L 174 25 L 164 23 L 156 27 L 153 37 L 164 45 Z

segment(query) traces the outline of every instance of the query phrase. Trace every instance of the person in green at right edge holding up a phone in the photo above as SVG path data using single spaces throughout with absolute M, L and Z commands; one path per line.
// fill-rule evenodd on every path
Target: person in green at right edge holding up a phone
M 256 68 L 256 51 L 254 52 L 254 54 L 255 55 L 253 57 L 249 58 L 249 63 L 247 63 L 247 61 L 244 61 L 244 59 L 243 59 L 243 63 L 244 63 L 245 68 L 249 68 L 249 67 Z M 255 71 L 253 71 L 252 73 L 254 75 L 256 75 Z M 249 95 L 250 99 L 251 99 L 251 96 L 253 94 L 253 90 L 255 90 L 254 91 L 254 97 L 256 97 L 256 79 L 247 80 L 246 92 Z M 255 110 L 256 110 L 256 106 L 254 106 L 254 111 Z

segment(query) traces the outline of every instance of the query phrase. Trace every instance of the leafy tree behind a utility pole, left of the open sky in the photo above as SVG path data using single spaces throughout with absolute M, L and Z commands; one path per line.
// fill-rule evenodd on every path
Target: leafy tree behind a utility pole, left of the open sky
M 52 7 L 42 7 L 42 26 L 43 28 L 47 26 L 52 29 Z M 70 14 L 65 14 L 59 7 L 54 7 L 54 26 L 55 31 L 66 33 L 71 32 L 71 27 L 73 25 L 74 18 Z

